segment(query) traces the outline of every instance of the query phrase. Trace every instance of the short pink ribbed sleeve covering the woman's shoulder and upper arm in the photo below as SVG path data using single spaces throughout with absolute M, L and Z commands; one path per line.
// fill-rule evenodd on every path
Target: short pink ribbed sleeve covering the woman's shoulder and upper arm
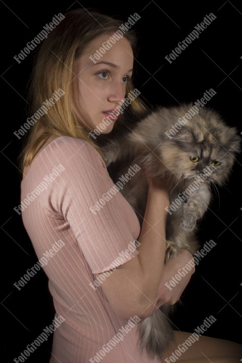
M 80 139 L 61 137 L 45 148 L 46 157 L 62 168 L 48 201 L 63 216 L 92 273 L 98 274 L 138 255 L 138 218 L 114 187 L 96 149 Z

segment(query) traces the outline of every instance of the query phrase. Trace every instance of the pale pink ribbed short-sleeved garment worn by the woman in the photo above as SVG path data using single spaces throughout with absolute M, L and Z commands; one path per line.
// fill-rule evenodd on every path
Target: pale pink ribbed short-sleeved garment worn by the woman
M 51 363 L 151 362 L 138 348 L 138 325 L 128 325 L 123 340 L 112 339 L 127 321 L 113 312 L 101 286 L 89 285 L 94 274 L 138 255 L 135 250 L 123 262 L 117 259 L 140 233 L 138 218 L 119 191 L 96 214 L 89 209 L 112 187 L 95 148 L 71 137 L 58 137 L 42 149 L 22 180 L 21 201 L 32 196 L 23 222 L 38 259 L 57 241 L 63 245 L 43 266 L 55 316 L 65 319 L 53 333 Z

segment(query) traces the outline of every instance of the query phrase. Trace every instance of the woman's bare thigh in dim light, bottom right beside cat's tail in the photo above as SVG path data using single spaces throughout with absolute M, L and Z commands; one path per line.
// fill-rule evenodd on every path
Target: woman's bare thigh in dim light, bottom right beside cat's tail
M 174 333 L 175 342 L 171 344 L 167 353 L 163 355 L 162 362 L 164 363 L 172 363 L 174 361 L 180 361 L 180 363 L 239 363 L 242 358 L 242 345 L 238 343 L 225 339 L 200 336 L 198 341 L 190 343 L 191 346 L 188 346 L 189 344 L 185 342 L 191 336 L 191 333 L 180 331 L 175 331 Z M 180 349 L 178 346 L 180 346 Z M 173 357 L 172 353 L 174 354 Z M 212 359 L 209 360 L 208 358 L 211 357 Z

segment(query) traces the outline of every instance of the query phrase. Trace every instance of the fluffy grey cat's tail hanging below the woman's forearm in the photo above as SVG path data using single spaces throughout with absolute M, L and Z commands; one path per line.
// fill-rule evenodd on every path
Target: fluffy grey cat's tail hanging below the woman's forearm
M 169 307 L 162 306 L 139 325 L 140 347 L 146 349 L 149 357 L 154 359 L 161 355 L 174 340 L 173 330 L 167 319 Z

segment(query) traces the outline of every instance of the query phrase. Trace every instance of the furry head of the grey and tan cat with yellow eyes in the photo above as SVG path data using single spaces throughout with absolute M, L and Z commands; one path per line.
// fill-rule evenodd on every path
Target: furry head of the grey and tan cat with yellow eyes
M 239 151 L 240 138 L 212 110 L 200 110 L 160 147 L 162 160 L 177 178 L 206 174 L 207 181 L 222 184 Z

